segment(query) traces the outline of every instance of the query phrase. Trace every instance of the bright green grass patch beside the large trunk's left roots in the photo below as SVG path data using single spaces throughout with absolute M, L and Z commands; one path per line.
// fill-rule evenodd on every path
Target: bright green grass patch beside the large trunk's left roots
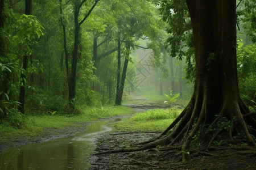
M 114 124 L 114 131 L 163 131 L 182 112 L 182 109 L 152 109 L 134 114 L 126 121 Z

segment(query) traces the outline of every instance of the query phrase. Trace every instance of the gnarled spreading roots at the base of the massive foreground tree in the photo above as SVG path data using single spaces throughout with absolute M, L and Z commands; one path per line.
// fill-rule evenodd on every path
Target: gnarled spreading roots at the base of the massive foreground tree
M 151 148 L 155 148 L 157 146 L 168 146 L 162 150 L 158 148 L 154 151 L 166 151 L 167 153 L 165 156 L 168 156 L 170 155 L 168 152 L 172 152 L 171 150 L 179 148 L 184 160 L 187 153 L 186 151 L 191 145 L 191 141 L 197 139 L 197 142 L 200 143 L 201 150 L 197 151 L 196 154 L 214 156 L 204 152 L 204 150 L 210 148 L 214 140 L 220 141 L 223 139 L 226 141 L 228 140 L 230 143 L 236 143 L 237 141 L 234 140 L 233 135 L 241 133 L 245 135 L 247 142 L 251 146 L 255 146 L 254 139 L 249 133 L 250 131 L 254 135 L 256 134 L 255 129 L 253 129 L 255 125 L 251 125 L 251 123 L 254 123 L 254 119 L 252 117 L 255 116 L 255 114 L 250 113 L 249 109 L 247 109 L 243 102 L 232 103 L 231 106 L 230 104 L 222 105 L 218 116 L 216 116 L 212 121 L 209 121 L 209 119 L 207 121 L 207 116 L 209 114 L 209 110 L 207 109 L 209 101 L 207 99 L 209 98 L 206 94 L 203 95 L 203 97 L 199 97 L 200 95 L 201 94 L 196 94 L 196 97 L 192 97 L 192 100 L 184 111 L 181 112 L 176 120 L 172 122 L 172 124 L 155 140 L 140 143 L 140 145 L 143 146 L 139 148 L 122 148 L 119 150 L 100 152 L 96 155 L 142 150 L 149 151 Z M 250 128 L 247 128 L 244 118 L 246 118 L 246 120 L 253 120 L 249 121 L 248 125 L 251 125 Z M 171 133 L 167 135 L 171 129 Z

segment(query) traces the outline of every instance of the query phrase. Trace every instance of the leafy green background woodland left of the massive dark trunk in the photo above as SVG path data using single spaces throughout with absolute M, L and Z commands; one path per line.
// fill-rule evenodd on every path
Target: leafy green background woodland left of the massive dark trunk
M 160 95 L 185 91 L 184 62 L 164 48 L 167 24 L 153 2 L 2 3 L 1 119 L 121 105 L 148 79 L 163 81 L 147 89 Z

